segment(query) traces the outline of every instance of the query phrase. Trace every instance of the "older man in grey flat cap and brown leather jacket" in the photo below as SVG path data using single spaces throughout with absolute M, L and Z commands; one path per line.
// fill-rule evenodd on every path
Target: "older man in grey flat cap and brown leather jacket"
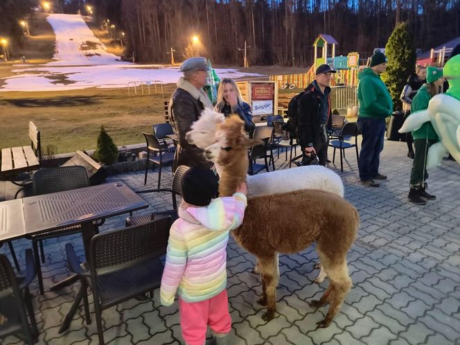
M 185 139 L 185 134 L 191 130 L 192 123 L 197 121 L 203 109 L 213 108 L 211 100 L 203 91 L 208 70 L 205 57 L 190 57 L 179 69 L 184 76 L 179 78 L 177 89 L 169 101 L 172 127 L 179 136 L 173 170 L 181 165 L 202 168 L 211 168 L 213 165 L 204 158 L 202 149 Z

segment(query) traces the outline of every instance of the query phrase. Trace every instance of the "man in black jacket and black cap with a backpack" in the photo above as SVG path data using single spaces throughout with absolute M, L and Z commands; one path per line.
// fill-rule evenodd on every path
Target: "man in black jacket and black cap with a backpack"
M 330 109 L 330 78 L 335 73 L 328 64 L 321 64 L 315 71 L 315 80 L 308 85 L 299 100 L 297 131 L 303 154 L 314 152 L 321 166 L 328 159 L 328 130 L 332 130 Z

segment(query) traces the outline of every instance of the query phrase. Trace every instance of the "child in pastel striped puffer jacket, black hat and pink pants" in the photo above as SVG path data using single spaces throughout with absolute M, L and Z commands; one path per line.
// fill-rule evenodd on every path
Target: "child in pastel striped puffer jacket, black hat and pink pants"
M 218 345 L 231 330 L 227 297 L 227 242 L 247 206 L 247 186 L 231 197 L 212 197 L 218 178 L 211 170 L 191 167 L 182 177 L 179 219 L 170 229 L 166 265 L 161 278 L 163 306 L 178 294 L 182 336 L 188 345 L 203 345 L 209 325 Z

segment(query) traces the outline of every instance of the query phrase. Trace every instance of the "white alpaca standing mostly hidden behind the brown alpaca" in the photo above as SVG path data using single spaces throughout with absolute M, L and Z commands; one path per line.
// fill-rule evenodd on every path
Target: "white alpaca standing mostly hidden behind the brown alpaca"
M 204 109 L 202 116 L 193 123 L 191 131 L 186 134 L 186 140 L 199 148 L 209 148 L 217 139 L 215 133 L 218 131 L 218 125 L 224 121 L 224 114 L 215 112 L 213 109 Z M 215 169 L 221 175 L 218 164 L 215 164 Z M 286 193 L 299 189 L 321 189 L 344 197 L 342 179 L 333 170 L 324 166 L 301 166 L 249 175 L 247 176 L 247 188 L 249 200 L 258 195 Z M 319 266 L 321 272 L 315 278 L 316 283 L 321 283 L 326 278 L 326 272 L 322 269 L 321 264 Z M 258 273 L 258 265 L 254 271 Z

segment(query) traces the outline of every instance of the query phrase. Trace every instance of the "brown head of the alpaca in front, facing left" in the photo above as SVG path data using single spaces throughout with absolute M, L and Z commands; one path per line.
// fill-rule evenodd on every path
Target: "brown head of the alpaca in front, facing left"
M 232 115 L 218 126 L 215 143 L 204 150 L 204 155 L 220 166 L 232 166 L 247 160 L 247 149 L 253 143 L 245 132 L 245 122 L 238 115 Z

